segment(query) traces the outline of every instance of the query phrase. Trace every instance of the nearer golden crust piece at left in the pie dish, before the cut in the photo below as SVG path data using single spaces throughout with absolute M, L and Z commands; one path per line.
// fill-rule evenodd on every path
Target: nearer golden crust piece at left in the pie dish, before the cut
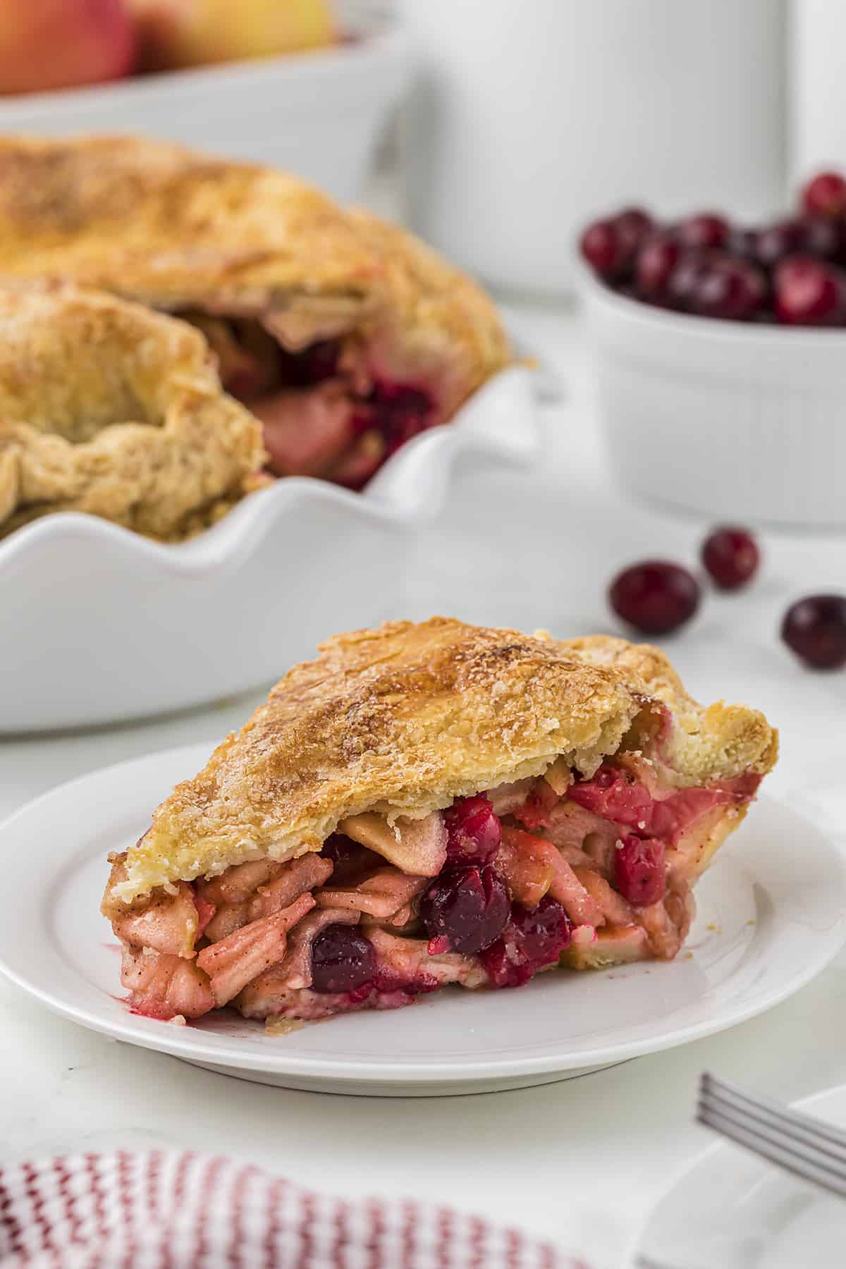
M 180 538 L 264 457 L 186 322 L 68 286 L 0 288 L 0 534 L 76 510 Z

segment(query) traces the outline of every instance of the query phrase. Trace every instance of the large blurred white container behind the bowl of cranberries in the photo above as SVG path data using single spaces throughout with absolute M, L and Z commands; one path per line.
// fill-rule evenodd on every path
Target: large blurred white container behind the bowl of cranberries
M 493 286 L 561 294 L 625 202 L 784 199 L 784 0 L 400 0 L 420 77 L 407 211 Z

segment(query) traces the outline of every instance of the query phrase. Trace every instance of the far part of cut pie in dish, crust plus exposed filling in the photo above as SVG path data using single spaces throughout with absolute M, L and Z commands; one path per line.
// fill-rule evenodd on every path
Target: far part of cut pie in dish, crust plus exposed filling
M 270 470 L 353 489 L 510 359 L 491 301 L 410 233 L 142 138 L 0 138 L 3 275 L 186 317 L 263 420 Z

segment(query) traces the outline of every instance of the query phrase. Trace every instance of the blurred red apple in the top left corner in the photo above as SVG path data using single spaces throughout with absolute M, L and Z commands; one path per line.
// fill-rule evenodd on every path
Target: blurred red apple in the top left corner
M 43 93 L 133 70 L 124 0 L 0 0 L 0 93 Z

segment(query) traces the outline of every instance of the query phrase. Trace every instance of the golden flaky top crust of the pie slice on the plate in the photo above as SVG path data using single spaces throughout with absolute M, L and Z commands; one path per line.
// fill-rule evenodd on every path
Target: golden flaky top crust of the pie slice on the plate
M 176 786 L 127 853 L 115 897 L 318 850 L 346 816 L 420 817 L 539 775 L 559 755 L 592 774 L 658 699 L 682 720 L 670 737 L 682 779 L 762 773 L 775 761 L 762 714 L 701 709 L 657 648 L 443 617 L 339 634 Z

